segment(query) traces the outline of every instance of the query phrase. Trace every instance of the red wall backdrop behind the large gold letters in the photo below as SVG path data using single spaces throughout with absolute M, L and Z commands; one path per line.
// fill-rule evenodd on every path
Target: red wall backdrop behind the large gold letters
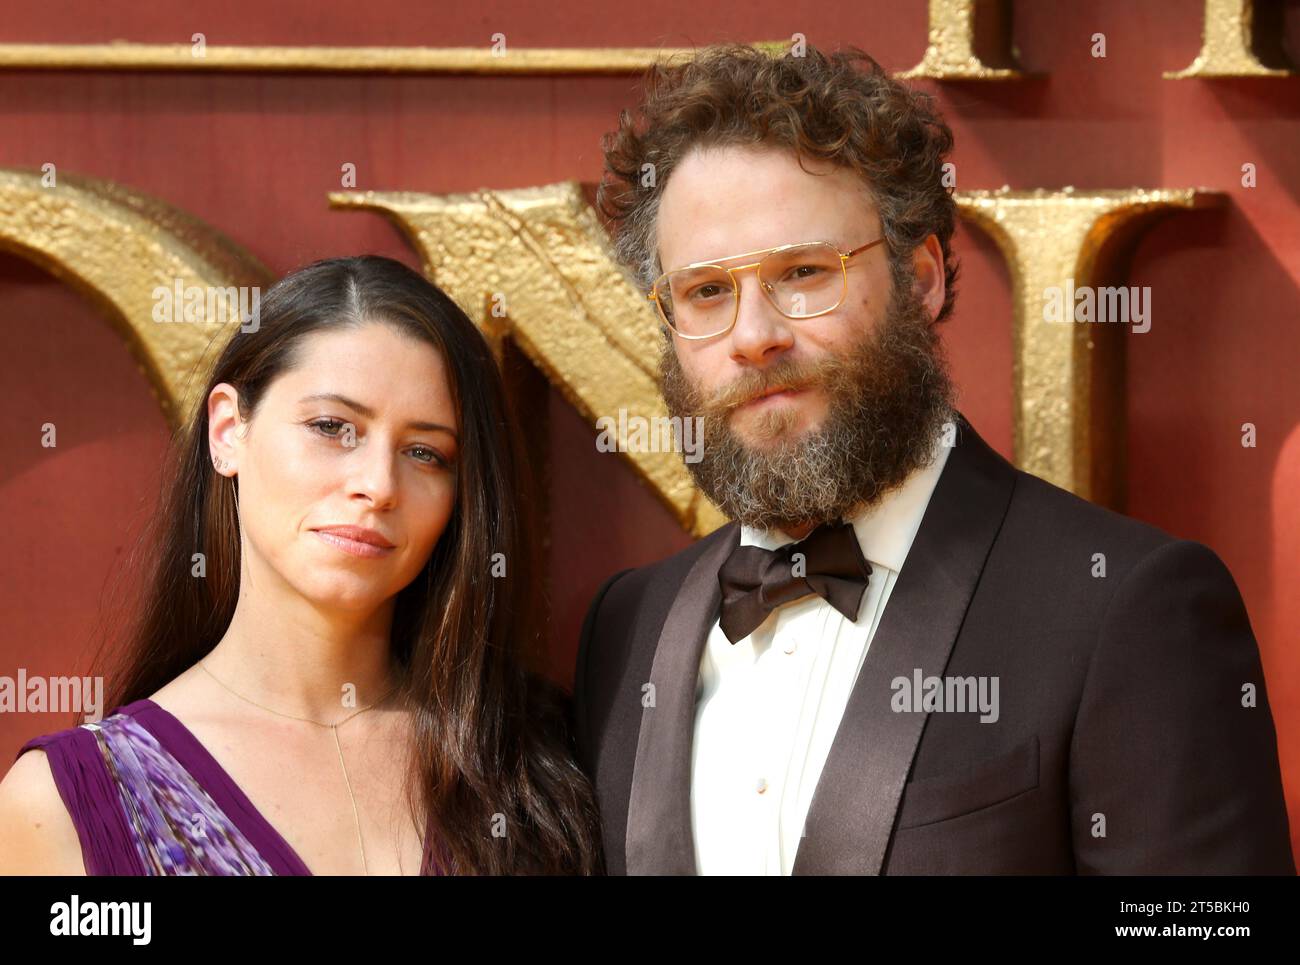
M 1300 78 L 1166 81 L 1200 48 L 1201 0 L 1014 4 L 1022 66 L 1009 85 L 924 83 L 952 124 L 958 187 L 1208 187 L 1228 203 L 1173 216 L 1139 243 L 1127 284 L 1150 286 L 1153 324 L 1128 342 L 1127 511 L 1226 561 L 1260 639 L 1300 840 Z M 1300 49 L 1300 9 L 1287 35 Z M 12 4 L 4 43 L 129 39 L 209 44 L 685 47 L 803 33 L 887 69 L 927 44 L 924 0 L 838 5 L 462 5 L 370 0 L 185 5 Z M 1108 56 L 1089 55 L 1104 33 Z M 57 164 L 161 198 L 273 271 L 377 252 L 417 265 L 378 215 L 332 212 L 339 166 L 358 190 L 425 192 L 595 182 L 599 137 L 637 96 L 634 75 L 311 75 L 0 72 L 0 166 Z M 1258 186 L 1240 183 L 1253 163 Z M 972 229 L 946 339 L 961 404 L 1011 449 L 1011 303 L 992 242 Z M 143 377 L 87 303 L 0 256 L 0 675 L 83 670 L 108 577 L 152 509 L 166 428 Z M 43 423 L 58 447 L 39 446 Z M 1258 427 L 1243 449 L 1242 423 Z M 592 593 L 615 568 L 688 536 L 594 429 L 551 391 L 551 670 L 569 681 Z M 0 769 L 66 718 L 0 717 Z M 1209 778 L 1209 775 L 1208 775 Z

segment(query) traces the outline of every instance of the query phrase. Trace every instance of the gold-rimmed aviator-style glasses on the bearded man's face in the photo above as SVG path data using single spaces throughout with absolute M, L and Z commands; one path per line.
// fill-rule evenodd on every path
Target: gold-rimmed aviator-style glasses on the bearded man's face
M 736 272 L 754 268 L 758 286 L 776 311 L 788 319 L 814 319 L 844 303 L 849 259 L 883 241 L 876 238 L 853 251 L 840 251 L 831 242 L 800 242 L 718 259 L 732 261 L 762 255 L 757 261 L 732 268 L 697 261 L 660 274 L 646 298 L 659 308 L 664 324 L 682 338 L 715 338 L 731 332 L 740 315 Z

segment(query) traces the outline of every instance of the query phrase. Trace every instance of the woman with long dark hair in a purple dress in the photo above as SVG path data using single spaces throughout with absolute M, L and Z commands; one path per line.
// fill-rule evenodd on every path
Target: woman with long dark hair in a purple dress
M 114 711 L 29 741 L 0 871 L 589 874 L 491 351 L 384 258 L 266 291 L 174 447 Z M 36 753 L 23 753 L 36 752 Z

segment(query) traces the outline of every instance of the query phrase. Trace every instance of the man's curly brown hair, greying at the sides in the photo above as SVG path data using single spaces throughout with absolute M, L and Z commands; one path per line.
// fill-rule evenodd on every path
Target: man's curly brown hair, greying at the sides
M 911 252 L 935 234 L 946 289 L 936 321 L 952 313 L 957 202 L 942 165 L 953 133 L 928 94 L 894 81 L 857 47 L 774 56 L 740 43 L 653 64 L 645 91 L 641 122 L 620 111 L 618 130 L 601 140 L 606 177 L 595 202 L 615 231 L 615 256 L 642 290 L 663 272 L 656 220 L 677 164 L 697 147 L 771 146 L 793 150 L 801 166 L 807 155 L 862 178 L 880 213 L 896 285 L 914 277 Z

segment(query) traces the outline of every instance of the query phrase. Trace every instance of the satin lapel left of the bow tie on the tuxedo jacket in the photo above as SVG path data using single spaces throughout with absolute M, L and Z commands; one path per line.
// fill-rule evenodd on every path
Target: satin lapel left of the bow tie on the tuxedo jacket
M 696 735 L 699 659 L 718 620 L 718 570 L 740 544 L 720 535 L 686 574 L 655 646 L 654 706 L 642 706 L 628 799 L 628 874 L 696 874 L 690 828 L 690 747 Z M 642 693 L 642 704 L 645 693 Z

